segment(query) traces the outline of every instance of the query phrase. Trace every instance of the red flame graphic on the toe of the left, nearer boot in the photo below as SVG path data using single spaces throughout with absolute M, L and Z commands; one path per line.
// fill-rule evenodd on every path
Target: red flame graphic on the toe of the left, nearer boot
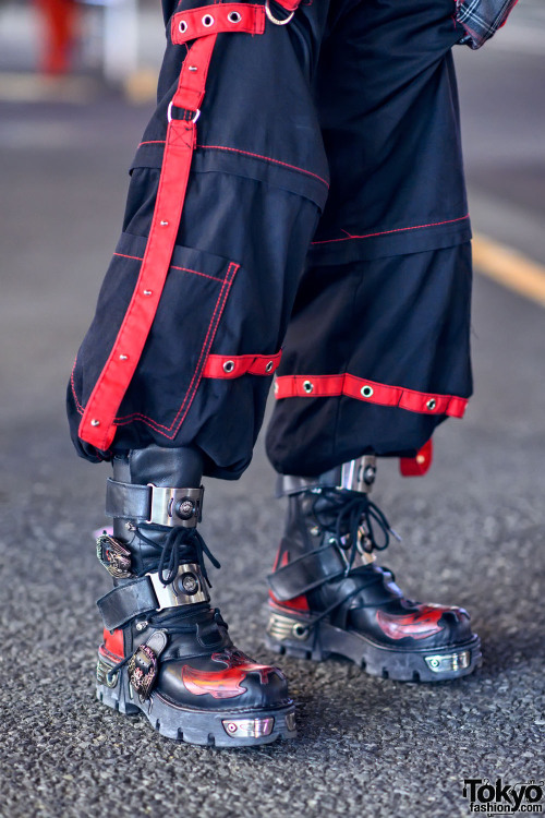
M 246 693 L 246 687 L 241 683 L 247 673 L 258 673 L 262 684 L 266 684 L 270 673 L 277 673 L 276 667 L 267 664 L 254 664 L 252 660 L 240 651 L 222 651 L 213 653 L 215 662 L 226 662 L 227 669 L 218 672 L 199 671 L 184 664 L 182 667 L 182 682 L 185 688 L 195 696 L 209 694 L 215 699 L 234 699 Z

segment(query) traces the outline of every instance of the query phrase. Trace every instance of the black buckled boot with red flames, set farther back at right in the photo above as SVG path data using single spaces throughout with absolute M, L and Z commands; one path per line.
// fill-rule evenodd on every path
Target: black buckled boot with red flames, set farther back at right
M 374 565 L 395 533 L 368 500 L 374 480 L 374 457 L 315 479 L 280 478 L 289 510 L 269 576 L 269 645 L 317 661 L 340 654 L 385 678 L 464 676 L 481 661 L 469 614 L 404 599 L 391 572 Z

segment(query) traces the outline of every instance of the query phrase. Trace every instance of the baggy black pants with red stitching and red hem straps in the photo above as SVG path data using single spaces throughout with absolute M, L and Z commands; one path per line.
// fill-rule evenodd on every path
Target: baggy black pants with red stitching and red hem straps
M 167 21 L 199 4 L 165 1 Z M 411 455 L 463 414 L 471 260 L 452 14 L 452 0 L 314 0 L 262 36 L 219 35 L 165 290 L 111 448 L 97 450 L 78 423 L 146 248 L 187 52 L 169 39 L 69 386 L 82 456 L 195 445 L 207 474 L 239 477 L 280 350 L 267 434 L 280 472 Z

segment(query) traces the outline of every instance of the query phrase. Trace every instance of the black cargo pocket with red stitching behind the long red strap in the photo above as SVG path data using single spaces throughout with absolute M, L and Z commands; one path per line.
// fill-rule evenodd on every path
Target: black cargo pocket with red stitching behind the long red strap
M 147 240 L 123 233 L 100 291 L 72 378 L 85 407 L 131 301 Z M 239 265 L 177 245 L 152 329 L 114 424 L 134 422 L 173 440 L 190 409 Z M 106 317 L 108 316 L 108 317 Z M 126 350 L 131 356 L 131 350 Z

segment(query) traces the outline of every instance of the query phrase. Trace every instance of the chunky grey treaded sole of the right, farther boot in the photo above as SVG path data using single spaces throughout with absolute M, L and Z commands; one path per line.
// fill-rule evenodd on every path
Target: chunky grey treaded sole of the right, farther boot
M 322 662 L 330 655 L 351 659 L 372 676 L 398 682 L 444 682 L 467 676 L 482 663 L 481 640 L 474 636 L 463 645 L 436 650 L 405 651 L 378 645 L 352 630 L 327 622 L 312 625 L 299 615 L 272 612 L 267 625 L 267 646 L 276 653 Z

